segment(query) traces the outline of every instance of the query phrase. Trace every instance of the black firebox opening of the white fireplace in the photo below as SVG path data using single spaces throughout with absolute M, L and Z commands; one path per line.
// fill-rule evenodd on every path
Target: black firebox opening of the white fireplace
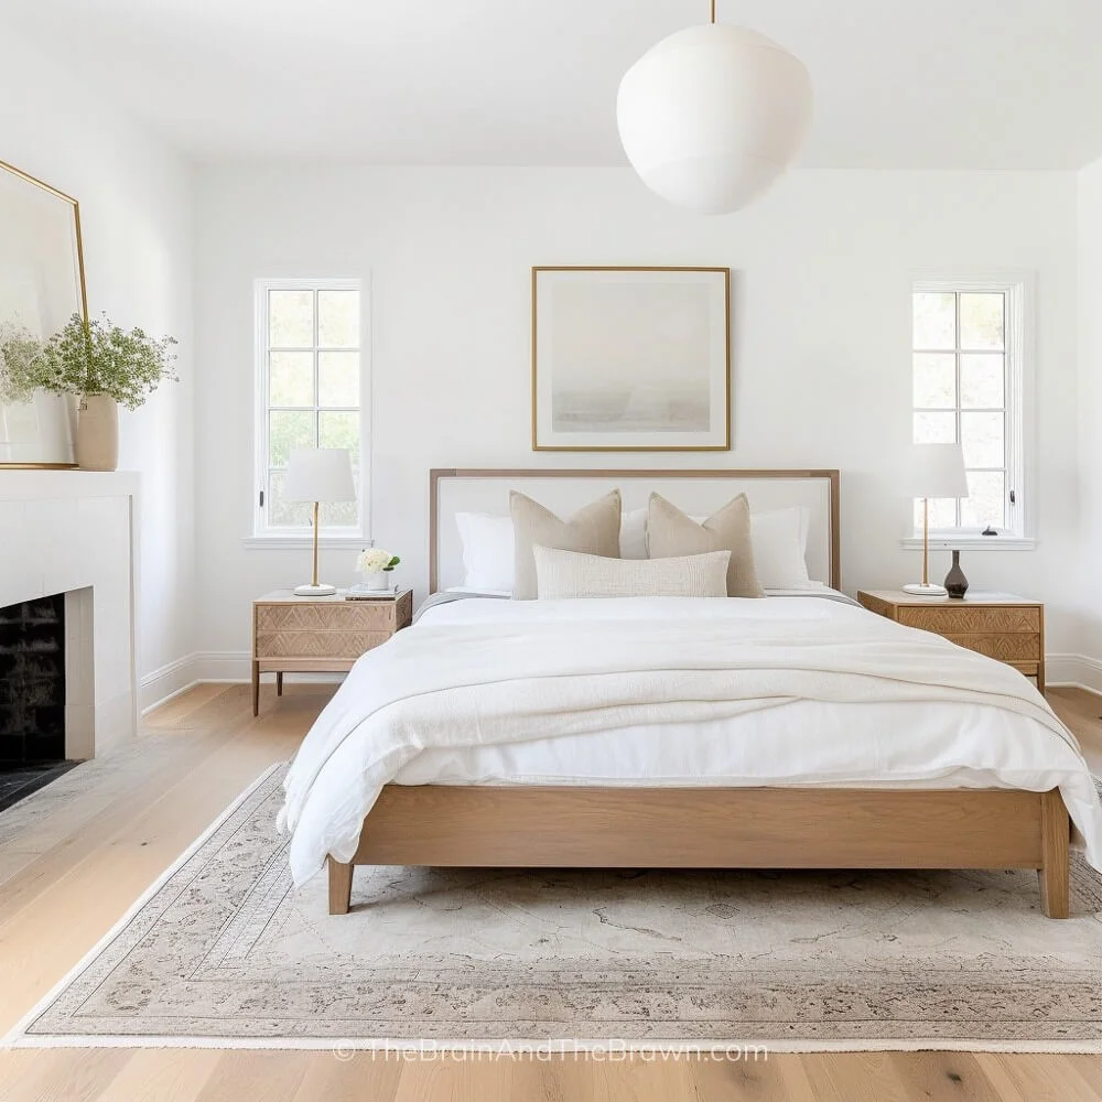
M 66 720 L 65 595 L 0 608 L 0 810 L 61 776 Z

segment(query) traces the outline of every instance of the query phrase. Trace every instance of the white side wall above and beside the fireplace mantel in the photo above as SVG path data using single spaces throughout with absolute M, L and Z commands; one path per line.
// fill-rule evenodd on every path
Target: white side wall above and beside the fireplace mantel
M 88 305 L 180 341 L 180 383 L 122 411 L 120 468 L 142 476 L 138 670 L 172 691 L 195 646 L 192 173 L 91 88 L 0 28 L 0 160 L 80 203 Z M 3 475 L 0 474 L 0 478 Z

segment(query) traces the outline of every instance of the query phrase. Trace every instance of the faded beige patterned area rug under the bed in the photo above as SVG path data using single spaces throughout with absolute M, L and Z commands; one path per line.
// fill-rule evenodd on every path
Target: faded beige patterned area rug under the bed
M 1102 1051 L 1102 878 L 360 868 L 295 890 L 266 774 L 18 1046 L 428 1041 Z

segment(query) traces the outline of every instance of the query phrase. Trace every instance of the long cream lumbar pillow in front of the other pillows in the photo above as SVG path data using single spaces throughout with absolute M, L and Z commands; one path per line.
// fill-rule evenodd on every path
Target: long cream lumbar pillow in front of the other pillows
M 725 597 L 730 551 L 680 559 L 603 559 L 532 548 L 540 601 L 575 597 Z

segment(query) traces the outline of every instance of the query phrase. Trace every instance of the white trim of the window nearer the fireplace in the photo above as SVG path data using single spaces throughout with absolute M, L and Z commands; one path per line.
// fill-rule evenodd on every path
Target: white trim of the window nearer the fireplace
M 268 479 L 268 292 L 309 288 L 315 291 L 359 291 L 359 395 L 360 395 L 360 527 L 323 528 L 318 543 L 324 548 L 358 550 L 371 540 L 371 309 L 370 279 L 299 277 L 253 281 L 252 309 L 256 320 L 253 370 L 253 474 L 252 532 L 241 540 L 250 550 L 299 550 L 313 545 L 313 534 L 295 528 L 269 528 L 260 505 L 260 490 Z M 316 318 L 315 318 L 316 324 Z

